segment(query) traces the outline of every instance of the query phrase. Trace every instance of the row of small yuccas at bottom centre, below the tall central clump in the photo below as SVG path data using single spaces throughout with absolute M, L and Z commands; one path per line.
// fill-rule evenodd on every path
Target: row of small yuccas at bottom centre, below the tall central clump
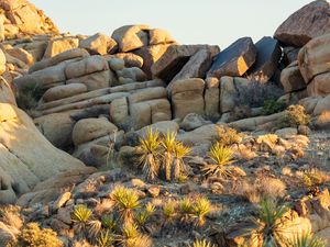
M 163 204 L 165 224 L 173 224 L 176 220 L 185 223 L 205 224 L 206 216 L 211 211 L 211 203 L 205 197 L 183 198 L 179 201 L 169 200 Z

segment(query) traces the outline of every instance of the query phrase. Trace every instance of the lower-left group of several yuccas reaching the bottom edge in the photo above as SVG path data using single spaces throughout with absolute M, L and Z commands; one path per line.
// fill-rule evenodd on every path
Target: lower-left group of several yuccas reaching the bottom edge
M 92 211 L 86 205 L 77 205 L 72 220 L 74 228 L 80 233 L 80 238 L 100 247 L 125 246 L 150 247 L 151 238 L 143 234 L 144 224 L 154 213 L 154 205 L 147 203 L 143 210 L 135 190 L 116 187 L 110 199 L 113 201 L 111 214 L 102 215 L 101 220 L 95 218 Z

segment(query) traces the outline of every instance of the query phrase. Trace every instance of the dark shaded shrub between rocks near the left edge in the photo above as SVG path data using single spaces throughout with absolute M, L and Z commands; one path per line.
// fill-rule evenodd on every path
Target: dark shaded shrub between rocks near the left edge
M 19 108 L 23 110 L 31 110 L 36 108 L 38 100 L 44 94 L 45 89 L 42 89 L 37 85 L 24 86 L 20 89 L 16 102 Z

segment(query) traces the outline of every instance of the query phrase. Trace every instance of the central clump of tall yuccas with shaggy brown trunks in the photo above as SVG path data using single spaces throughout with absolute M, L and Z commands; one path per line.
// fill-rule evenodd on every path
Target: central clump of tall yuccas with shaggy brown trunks
M 167 132 L 161 136 L 158 131 L 147 128 L 145 137 L 140 138 L 142 150 L 141 165 L 147 180 L 154 180 L 160 175 L 165 180 L 179 179 L 187 172 L 184 158 L 190 148 L 176 139 L 176 134 Z

